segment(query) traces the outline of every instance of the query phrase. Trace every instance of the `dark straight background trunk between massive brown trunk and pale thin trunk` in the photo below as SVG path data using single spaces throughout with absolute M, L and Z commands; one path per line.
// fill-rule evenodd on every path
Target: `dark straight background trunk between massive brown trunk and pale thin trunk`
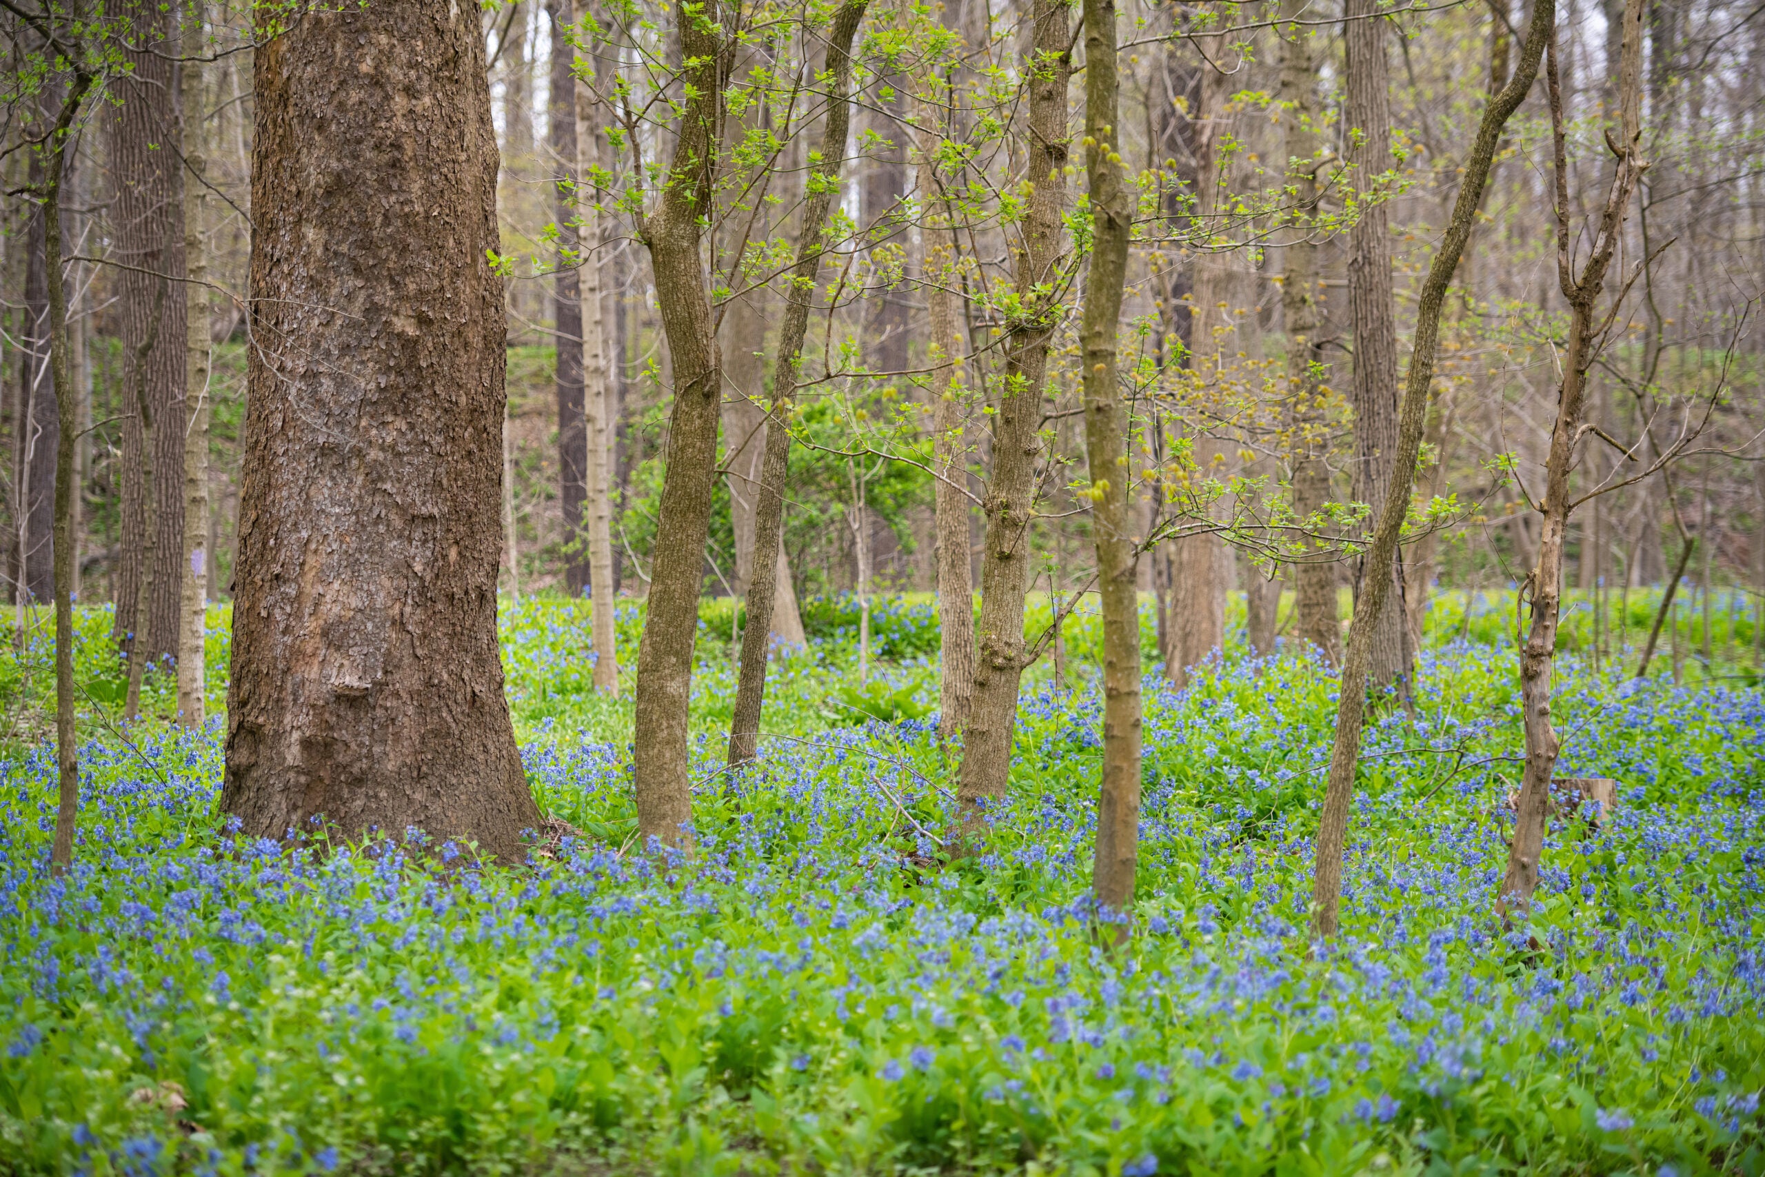
M 554 388 L 558 395 L 558 510 L 563 514 L 563 582 L 570 596 L 588 588 L 588 544 L 582 503 L 588 498 L 588 434 L 582 427 L 582 304 L 577 266 L 581 247 L 575 226 L 575 78 L 568 42 L 570 0 L 549 0 L 551 90 L 545 99 L 545 139 L 551 173 L 558 176 L 552 219 L 558 224 L 558 272 L 552 275 L 552 341 L 558 348 Z

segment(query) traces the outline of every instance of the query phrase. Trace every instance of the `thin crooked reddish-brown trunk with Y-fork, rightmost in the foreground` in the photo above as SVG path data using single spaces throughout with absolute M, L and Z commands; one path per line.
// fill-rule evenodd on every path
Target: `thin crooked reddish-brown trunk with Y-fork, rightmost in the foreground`
M 1626 0 L 1624 44 L 1619 56 L 1620 122 L 1615 139 L 1606 141 L 1619 157 L 1617 173 L 1606 194 L 1599 229 L 1587 252 L 1580 277 L 1574 274 L 1574 254 L 1569 233 L 1569 161 L 1564 145 L 1562 88 L 1557 79 L 1557 34 L 1551 32 L 1546 85 L 1550 86 L 1551 138 L 1557 171 L 1557 281 L 1569 302 L 1569 337 L 1562 356 L 1562 386 L 1557 399 L 1557 422 L 1550 434 L 1550 457 L 1544 464 L 1544 526 L 1539 529 L 1539 556 L 1532 568 L 1532 616 L 1527 641 L 1520 648 L 1520 704 L 1527 732 L 1527 764 L 1520 778 L 1520 799 L 1514 805 L 1514 836 L 1507 849 L 1507 870 L 1497 895 L 1497 911 L 1504 916 L 1525 909 L 1539 884 L 1539 856 L 1544 851 L 1544 826 L 1550 817 L 1550 782 L 1557 771 L 1560 743 L 1550 722 L 1551 669 L 1557 655 L 1557 621 L 1562 596 L 1562 556 L 1569 529 L 1569 468 L 1574 446 L 1581 439 L 1581 401 L 1587 394 L 1587 369 L 1592 367 L 1597 341 L 1610 328 L 1610 319 L 1596 318 L 1599 296 L 1606 282 L 1611 254 L 1624 236 L 1624 219 L 1629 214 L 1631 192 L 1643 169 L 1638 141 L 1641 138 L 1641 58 L 1643 58 L 1643 0 Z M 1622 293 L 1620 293 L 1622 296 Z M 1613 307 L 1613 311 L 1617 311 Z M 1691 551 L 1687 544 L 1686 551 Z M 1684 565 L 1680 566 L 1684 572 Z

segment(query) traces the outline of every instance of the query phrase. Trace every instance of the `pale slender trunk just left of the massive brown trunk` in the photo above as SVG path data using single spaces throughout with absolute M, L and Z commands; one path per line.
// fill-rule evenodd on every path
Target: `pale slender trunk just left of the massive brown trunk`
M 207 198 L 203 176 L 208 168 L 205 145 L 207 69 L 203 65 L 205 4 L 192 0 L 185 11 L 182 64 L 182 138 L 184 164 L 191 169 L 184 185 L 184 268 L 191 288 L 185 296 L 187 332 L 184 404 L 184 559 L 178 625 L 178 716 L 185 727 L 203 725 L 207 665 L 203 658 L 208 616 L 208 252 L 203 242 Z

